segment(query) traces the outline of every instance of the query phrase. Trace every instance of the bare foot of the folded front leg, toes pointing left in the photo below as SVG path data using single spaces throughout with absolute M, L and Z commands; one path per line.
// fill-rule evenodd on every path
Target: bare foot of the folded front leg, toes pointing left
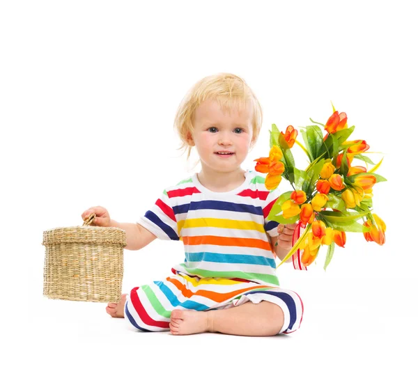
M 184 336 L 185 334 L 205 333 L 210 331 L 211 318 L 208 311 L 173 310 L 171 312 L 171 334 Z

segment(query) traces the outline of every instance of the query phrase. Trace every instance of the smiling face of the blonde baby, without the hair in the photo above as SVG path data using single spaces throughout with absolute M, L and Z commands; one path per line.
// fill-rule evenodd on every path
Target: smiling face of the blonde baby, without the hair
M 202 169 L 221 173 L 236 171 L 247 157 L 253 135 L 252 108 L 239 112 L 222 111 L 219 104 L 205 100 L 194 118 L 194 135 L 189 145 L 196 146 Z M 219 152 L 229 152 L 220 155 Z

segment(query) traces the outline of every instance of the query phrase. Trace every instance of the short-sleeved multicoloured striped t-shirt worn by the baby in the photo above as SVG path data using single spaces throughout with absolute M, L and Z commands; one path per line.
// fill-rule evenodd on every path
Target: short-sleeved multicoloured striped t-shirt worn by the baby
M 267 235 L 278 235 L 279 223 L 267 217 L 279 191 L 264 181 L 265 174 L 246 171 L 240 187 L 215 192 L 195 173 L 165 189 L 137 223 L 159 239 L 183 241 L 185 261 L 173 270 L 279 285 Z

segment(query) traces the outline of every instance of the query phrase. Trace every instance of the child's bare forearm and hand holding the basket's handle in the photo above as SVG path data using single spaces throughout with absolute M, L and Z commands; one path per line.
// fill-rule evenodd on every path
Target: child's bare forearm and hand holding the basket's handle
M 127 250 L 139 250 L 145 247 L 156 238 L 153 233 L 146 230 L 143 226 L 138 223 L 118 223 L 113 219 L 110 219 L 109 212 L 104 207 L 96 206 L 91 207 L 82 214 L 83 221 L 88 218 L 90 214 L 96 214 L 92 226 L 102 227 L 117 227 L 125 230 L 126 243 L 125 249 Z

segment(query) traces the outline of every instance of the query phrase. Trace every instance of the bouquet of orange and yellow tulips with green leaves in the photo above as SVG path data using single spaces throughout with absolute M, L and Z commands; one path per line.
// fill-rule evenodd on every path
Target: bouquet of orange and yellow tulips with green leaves
M 363 233 L 366 241 L 385 243 L 385 222 L 371 212 L 373 187 L 386 180 L 375 173 L 383 158 L 374 164 L 364 155 L 369 150 L 366 141 L 349 141 L 354 126 L 348 127 L 346 113 L 332 109 L 325 125 L 310 119 L 314 125 L 301 127 L 305 146 L 296 140 L 298 132 L 293 126 L 279 132 L 273 124 L 269 156 L 254 161 L 256 171 L 267 173 L 267 189 L 276 189 L 282 178 L 293 188 L 277 198 L 268 215 L 279 223 L 297 223 L 293 248 L 277 267 L 292 257 L 295 269 L 307 270 L 320 247 L 327 246 L 326 271 L 335 244 L 346 244 L 346 232 Z M 295 166 L 291 151 L 295 143 L 309 158 L 305 170 Z

